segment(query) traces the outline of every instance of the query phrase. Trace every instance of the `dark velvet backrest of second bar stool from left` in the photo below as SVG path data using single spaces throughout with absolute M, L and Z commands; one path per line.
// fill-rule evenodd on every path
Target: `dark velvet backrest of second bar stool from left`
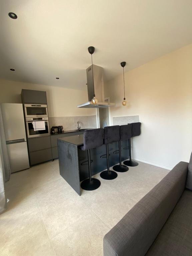
M 120 126 L 113 125 L 113 126 L 106 126 L 104 127 L 104 144 L 109 144 L 112 142 L 120 141 Z

